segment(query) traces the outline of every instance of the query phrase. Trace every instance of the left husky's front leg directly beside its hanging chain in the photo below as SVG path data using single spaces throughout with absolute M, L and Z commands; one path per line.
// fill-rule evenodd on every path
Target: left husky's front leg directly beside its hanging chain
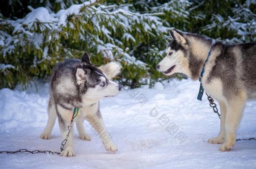
M 64 139 L 66 139 L 68 132 L 69 132 L 68 125 L 70 125 L 70 119 L 72 117 L 72 112 L 58 106 L 57 114 L 58 114 L 58 118 L 59 118 L 60 133 L 64 140 Z M 69 133 L 68 140 L 67 140 L 65 146 L 63 147 L 63 151 L 61 151 L 60 156 L 75 156 L 74 143 L 73 143 L 74 134 L 73 133 L 74 133 L 74 125 L 72 126 L 72 129 Z

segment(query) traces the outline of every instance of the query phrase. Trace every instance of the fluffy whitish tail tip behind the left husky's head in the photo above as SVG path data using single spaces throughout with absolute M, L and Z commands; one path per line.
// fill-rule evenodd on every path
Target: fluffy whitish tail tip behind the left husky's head
M 107 78 L 111 80 L 120 73 L 122 66 L 117 62 L 110 62 L 99 67 L 99 69 L 105 73 Z

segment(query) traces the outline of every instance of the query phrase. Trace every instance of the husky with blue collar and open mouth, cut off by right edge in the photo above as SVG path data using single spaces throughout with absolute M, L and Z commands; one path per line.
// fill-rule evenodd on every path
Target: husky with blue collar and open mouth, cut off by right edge
M 243 116 L 246 100 L 256 99 L 256 43 L 227 45 L 202 35 L 170 31 L 171 43 L 157 69 L 165 75 L 184 73 L 201 81 L 203 89 L 215 98 L 221 109 L 221 130 L 212 144 L 230 151 Z

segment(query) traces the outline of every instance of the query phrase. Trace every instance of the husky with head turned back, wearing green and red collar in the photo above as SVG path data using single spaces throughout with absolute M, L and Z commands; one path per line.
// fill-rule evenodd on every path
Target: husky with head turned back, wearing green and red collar
M 74 122 L 80 138 L 91 140 L 84 129 L 83 121 L 86 119 L 99 134 L 105 149 L 110 152 L 118 151 L 118 147 L 112 142 L 104 125 L 99 110 L 99 100 L 120 93 L 121 86 L 110 80 L 118 75 L 120 70 L 121 66 L 116 62 L 107 63 L 99 68 L 93 66 L 87 53 L 84 53 L 82 60 L 67 59 L 58 63 L 52 73 L 50 83 L 47 126 L 40 137 L 50 139 L 52 128 L 58 117 L 61 135 L 63 139 L 66 139 L 74 108 L 78 108 Z M 75 155 L 73 127 L 60 155 Z

